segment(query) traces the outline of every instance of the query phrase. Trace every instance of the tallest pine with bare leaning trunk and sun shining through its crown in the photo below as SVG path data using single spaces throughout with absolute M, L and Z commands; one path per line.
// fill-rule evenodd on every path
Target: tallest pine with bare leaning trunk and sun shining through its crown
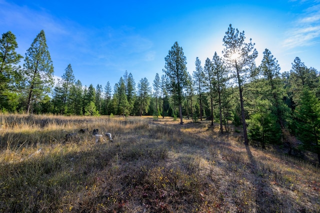
M 241 107 L 241 119 L 243 127 L 244 144 L 248 145 L 248 138 L 246 132 L 245 112 L 243 106 L 242 96 L 242 84 L 246 78 L 247 67 L 252 64 L 257 57 L 257 51 L 254 49 L 254 43 L 244 42 L 244 31 L 239 33 L 238 29 L 234 29 L 230 24 L 228 30 L 223 37 L 223 56 L 226 58 L 226 62 L 231 69 L 235 71 L 236 81 L 239 89 L 240 107 Z

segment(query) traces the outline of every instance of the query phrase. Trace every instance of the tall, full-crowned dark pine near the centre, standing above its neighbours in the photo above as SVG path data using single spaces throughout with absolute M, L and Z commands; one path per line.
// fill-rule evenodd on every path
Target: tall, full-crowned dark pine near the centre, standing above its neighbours
M 182 47 L 175 42 L 168 55 L 165 57 L 164 73 L 169 79 L 167 90 L 172 94 L 174 102 L 179 107 L 180 124 L 182 121 L 182 101 L 183 89 L 186 86 L 186 57 L 184 56 Z

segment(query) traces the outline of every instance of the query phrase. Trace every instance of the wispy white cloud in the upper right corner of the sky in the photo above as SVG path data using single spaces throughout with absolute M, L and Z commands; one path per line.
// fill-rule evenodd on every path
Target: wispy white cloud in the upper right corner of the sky
M 320 5 L 314 2 L 315 4 L 308 6 L 294 20 L 292 27 L 286 32 L 287 38 L 282 43 L 283 47 L 310 46 L 320 42 Z

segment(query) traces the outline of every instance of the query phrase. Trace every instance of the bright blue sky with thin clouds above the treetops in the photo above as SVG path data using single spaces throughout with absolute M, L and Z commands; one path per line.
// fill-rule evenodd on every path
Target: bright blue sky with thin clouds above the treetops
M 43 29 L 55 76 L 71 64 L 83 86 L 112 89 L 125 70 L 151 86 L 175 41 L 192 74 L 196 57 L 222 56 L 230 23 L 252 38 L 257 65 L 268 48 L 281 71 L 296 56 L 320 70 L 320 0 L 0 0 L 0 33 L 16 35 L 18 53 Z

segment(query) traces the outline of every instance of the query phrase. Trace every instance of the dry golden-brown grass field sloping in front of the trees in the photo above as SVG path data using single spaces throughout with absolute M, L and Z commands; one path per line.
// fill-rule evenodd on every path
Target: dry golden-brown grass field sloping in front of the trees
M 320 212 L 318 167 L 184 122 L 0 115 L 0 212 Z

